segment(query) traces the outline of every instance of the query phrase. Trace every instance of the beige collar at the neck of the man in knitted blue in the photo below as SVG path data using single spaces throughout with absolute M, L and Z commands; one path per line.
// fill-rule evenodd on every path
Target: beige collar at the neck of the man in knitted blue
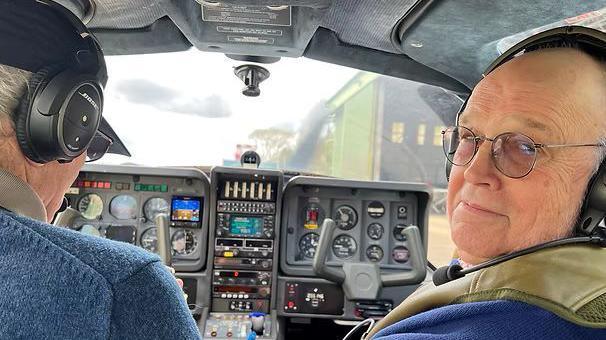
M 21 178 L 3 169 L 0 169 L 0 207 L 46 222 L 46 208 L 40 196 Z

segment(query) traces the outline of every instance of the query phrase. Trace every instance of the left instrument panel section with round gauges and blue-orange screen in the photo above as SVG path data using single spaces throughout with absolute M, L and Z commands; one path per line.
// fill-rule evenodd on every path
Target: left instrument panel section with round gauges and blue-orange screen
M 199 270 L 206 262 L 209 185 L 195 169 L 85 168 L 66 195 L 81 214 L 70 227 L 157 252 L 155 218 L 166 214 L 174 267 Z

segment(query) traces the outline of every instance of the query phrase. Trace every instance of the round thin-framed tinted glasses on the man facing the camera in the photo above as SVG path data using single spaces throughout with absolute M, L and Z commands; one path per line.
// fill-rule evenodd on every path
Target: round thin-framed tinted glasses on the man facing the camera
M 539 144 L 516 132 L 505 132 L 494 138 L 476 136 L 464 126 L 451 126 L 442 131 L 442 146 L 446 159 L 453 165 L 471 162 L 484 141 L 492 142 L 490 156 L 495 167 L 505 176 L 522 178 L 528 175 L 537 161 L 537 150 L 560 147 L 604 147 L 602 144 Z

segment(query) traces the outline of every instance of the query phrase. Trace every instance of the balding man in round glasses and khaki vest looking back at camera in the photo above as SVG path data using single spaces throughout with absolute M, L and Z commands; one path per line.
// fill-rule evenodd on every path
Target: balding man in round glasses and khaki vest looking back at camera
M 556 28 L 497 59 L 444 131 L 459 263 L 365 338 L 606 338 L 604 117 L 605 33 Z

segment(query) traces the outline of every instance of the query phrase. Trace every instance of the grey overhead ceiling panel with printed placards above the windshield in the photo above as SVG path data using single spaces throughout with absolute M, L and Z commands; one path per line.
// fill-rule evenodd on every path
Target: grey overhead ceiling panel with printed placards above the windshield
M 299 57 L 327 8 L 194 1 L 167 6 L 194 46 L 236 55 Z

